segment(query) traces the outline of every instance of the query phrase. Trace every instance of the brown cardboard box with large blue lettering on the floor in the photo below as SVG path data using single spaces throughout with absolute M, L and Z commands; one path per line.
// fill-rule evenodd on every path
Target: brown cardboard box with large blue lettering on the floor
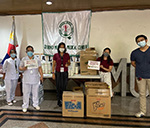
M 82 91 L 63 92 L 63 116 L 84 117 L 84 95 Z

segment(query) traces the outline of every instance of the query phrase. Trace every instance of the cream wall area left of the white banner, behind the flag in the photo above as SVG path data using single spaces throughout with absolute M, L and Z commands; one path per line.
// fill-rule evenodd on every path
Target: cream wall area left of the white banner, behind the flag
M 26 55 L 25 48 L 32 45 L 35 52 L 42 53 L 42 23 L 41 15 L 24 15 L 15 16 L 16 36 L 19 47 L 17 48 L 18 56 L 21 58 Z M 12 27 L 12 16 L 0 17 L 0 58 L 3 58 L 7 52 L 9 44 L 9 35 Z

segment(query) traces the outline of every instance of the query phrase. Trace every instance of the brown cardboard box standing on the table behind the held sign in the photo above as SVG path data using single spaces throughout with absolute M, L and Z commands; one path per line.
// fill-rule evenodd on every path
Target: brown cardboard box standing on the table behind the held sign
M 97 75 L 97 70 L 88 69 L 88 60 L 95 61 L 97 59 L 97 52 L 95 48 L 87 48 L 80 52 L 80 74 L 81 75 Z

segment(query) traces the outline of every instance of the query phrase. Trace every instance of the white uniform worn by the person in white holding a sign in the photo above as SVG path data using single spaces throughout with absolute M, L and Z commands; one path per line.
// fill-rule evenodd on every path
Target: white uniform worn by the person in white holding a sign
M 41 61 L 37 58 L 33 58 L 37 61 L 38 67 L 41 67 Z M 30 60 L 28 56 L 22 58 L 20 67 L 25 67 L 25 61 Z M 30 94 L 32 95 L 33 107 L 39 105 L 38 91 L 40 86 L 40 74 L 38 68 L 28 69 L 23 72 L 23 105 L 22 108 L 29 107 Z

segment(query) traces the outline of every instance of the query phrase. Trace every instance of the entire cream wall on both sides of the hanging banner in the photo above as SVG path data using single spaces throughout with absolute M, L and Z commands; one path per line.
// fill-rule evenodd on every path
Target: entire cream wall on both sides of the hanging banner
M 25 56 L 25 47 L 33 45 L 35 52 L 43 52 L 41 15 L 15 16 L 20 57 Z M 0 58 L 7 52 L 12 17 L 0 16 Z M 95 46 L 101 55 L 105 47 L 112 49 L 112 58 L 128 58 L 137 48 L 135 37 L 150 35 L 150 10 L 104 11 L 92 13 L 89 46 Z

